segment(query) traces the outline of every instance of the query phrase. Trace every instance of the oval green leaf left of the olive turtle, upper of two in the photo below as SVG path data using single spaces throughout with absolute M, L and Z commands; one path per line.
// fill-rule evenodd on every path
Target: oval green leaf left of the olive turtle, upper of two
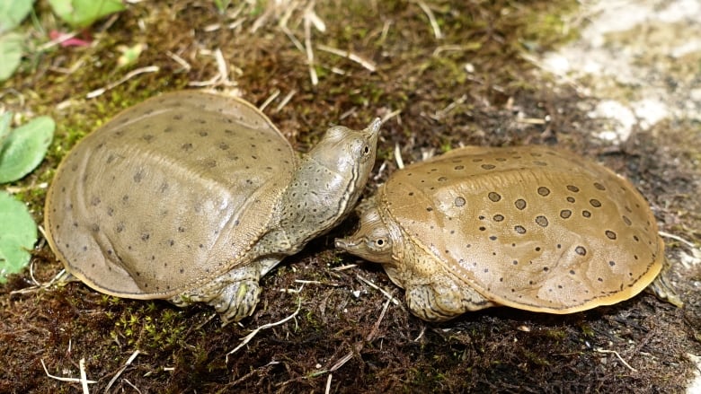
M 33 118 L 15 128 L 0 146 L 0 183 L 21 179 L 44 159 L 56 124 L 49 117 Z

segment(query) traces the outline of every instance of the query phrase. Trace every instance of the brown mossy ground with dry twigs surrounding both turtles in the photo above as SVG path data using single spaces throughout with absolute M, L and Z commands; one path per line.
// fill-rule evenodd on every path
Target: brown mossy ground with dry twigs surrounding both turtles
M 396 169 L 395 148 L 415 162 L 461 144 L 556 144 L 631 179 L 662 231 L 701 241 L 699 120 L 675 115 L 634 123 L 624 141 L 599 138 L 610 125 L 590 116 L 595 92 L 537 61 L 587 26 L 576 2 L 267 3 L 234 2 L 222 15 L 207 0 L 135 2 L 95 25 L 90 47 L 32 53 L 2 101 L 57 120 L 47 160 L 11 185 L 37 223 L 58 162 L 81 136 L 147 97 L 206 87 L 259 106 L 272 98 L 264 112 L 300 152 L 329 125 L 400 111 L 383 127 L 366 196 Z M 33 29 L 59 29 L 38 7 Z M 118 69 L 120 46 L 136 44 L 145 46 L 137 63 Z M 670 90 L 698 86 L 698 64 Z M 355 224 L 285 259 L 262 279 L 253 316 L 224 328 L 206 306 L 37 286 L 62 268 L 40 240 L 31 273 L 0 286 L 0 392 L 79 392 L 81 363 L 90 391 L 141 393 L 679 393 L 698 372 L 701 266 L 681 241 L 666 239 L 681 309 L 642 293 L 572 315 L 492 308 L 428 324 L 381 267 L 333 249 Z

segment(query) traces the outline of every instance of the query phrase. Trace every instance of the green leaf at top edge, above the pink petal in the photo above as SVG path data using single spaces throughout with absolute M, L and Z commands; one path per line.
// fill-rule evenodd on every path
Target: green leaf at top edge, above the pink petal
M 58 17 L 77 29 L 124 10 L 120 0 L 49 0 L 49 4 Z

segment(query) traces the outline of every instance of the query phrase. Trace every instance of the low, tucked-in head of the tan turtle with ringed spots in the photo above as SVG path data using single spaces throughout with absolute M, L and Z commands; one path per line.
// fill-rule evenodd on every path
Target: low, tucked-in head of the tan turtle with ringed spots
M 382 221 L 377 207 L 368 207 L 360 215 L 357 232 L 348 238 L 336 240 L 336 248 L 376 263 L 392 263 L 392 237 Z

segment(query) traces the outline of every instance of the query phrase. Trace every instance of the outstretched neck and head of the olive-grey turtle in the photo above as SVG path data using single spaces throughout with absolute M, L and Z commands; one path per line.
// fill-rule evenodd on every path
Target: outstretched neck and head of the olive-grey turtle
M 297 253 L 348 215 L 375 162 L 379 126 L 377 119 L 363 131 L 332 127 L 302 156 L 253 258 Z

